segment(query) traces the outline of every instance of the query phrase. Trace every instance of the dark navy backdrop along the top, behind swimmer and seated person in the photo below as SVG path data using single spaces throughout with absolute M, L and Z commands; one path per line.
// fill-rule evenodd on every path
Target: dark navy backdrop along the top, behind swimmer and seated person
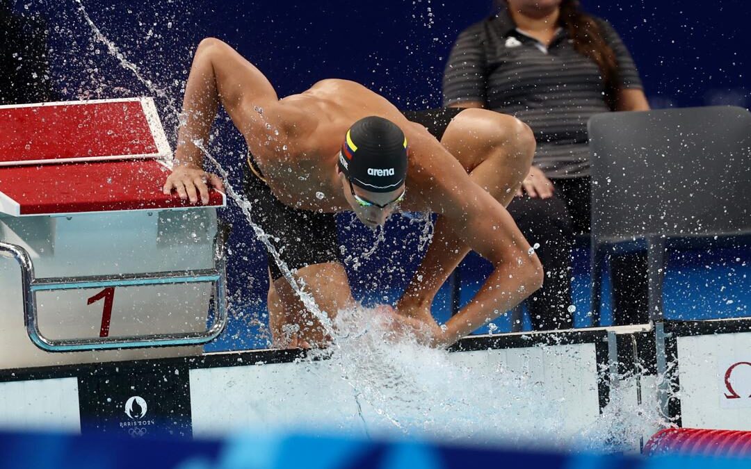
M 723 99 L 748 104 L 751 63 L 741 47 L 751 13 L 748 2 L 583 3 L 620 32 L 650 98 L 681 107 Z M 17 10 L 44 14 L 50 22 L 53 62 L 66 95 L 98 93 L 89 68 L 98 68 L 95 75 L 107 80 L 109 89 L 100 94 L 112 95 L 118 86 L 146 92 L 129 72 L 119 70 L 115 59 L 95 55 L 77 0 L 27 0 L 23 5 L 28 10 L 21 2 Z M 280 96 L 339 77 L 379 90 L 406 109 L 440 104 L 441 75 L 454 38 L 493 11 L 489 0 L 83 0 L 83 6 L 104 35 L 161 86 L 184 79 L 195 45 L 215 36 L 258 65 Z M 61 63 L 64 56 L 68 61 Z

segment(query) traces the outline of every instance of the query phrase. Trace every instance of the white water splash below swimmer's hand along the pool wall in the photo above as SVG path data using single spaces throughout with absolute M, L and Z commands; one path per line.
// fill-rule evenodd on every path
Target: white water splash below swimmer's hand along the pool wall
M 478 366 L 484 362 L 478 355 L 501 356 L 504 350 L 446 353 L 427 348 L 413 337 L 394 335 L 390 318 L 376 309 L 339 311 L 334 325 L 340 334 L 336 349 L 313 350 L 311 356 L 328 358 L 318 370 L 327 375 L 324 380 L 339 376 L 354 383 L 368 404 L 360 417 L 369 434 L 396 429 L 472 444 L 502 438 L 529 446 L 542 440 L 561 449 L 613 452 L 638 449 L 645 432 L 666 426 L 656 397 L 642 403 L 632 398 L 634 376 L 615 377 L 629 384 L 611 390 L 594 425 L 571 422 L 565 409 L 575 399 L 568 402 L 562 390 L 546 388 L 531 370 L 509 368 L 502 359 Z M 535 347 L 529 353 L 547 361 L 576 356 L 566 346 Z M 657 395 L 656 383 L 645 388 L 646 395 Z

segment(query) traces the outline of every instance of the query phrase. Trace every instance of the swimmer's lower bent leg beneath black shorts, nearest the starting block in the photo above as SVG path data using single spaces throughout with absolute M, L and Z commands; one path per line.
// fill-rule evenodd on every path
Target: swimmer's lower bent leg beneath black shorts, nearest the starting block
M 326 312 L 330 320 L 334 320 L 339 309 L 354 305 L 347 273 L 342 264 L 312 264 L 297 269 L 294 275 L 304 282 L 304 290 L 312 295 L 315 304 L 321 311 Z M 330 341 L 324 326 L 305 308 L 297 292 L 283 277 L 277 278 L 270 285 L 269 314 L 275 342 L 277 337 L 285 337 L 285 326 L 293 326 L 296 329 L 299 327 L 296 335 L 291 336 L 291 342 L 285 344 L 283 339 L 280 341 L 282 347 L 323 347 Z

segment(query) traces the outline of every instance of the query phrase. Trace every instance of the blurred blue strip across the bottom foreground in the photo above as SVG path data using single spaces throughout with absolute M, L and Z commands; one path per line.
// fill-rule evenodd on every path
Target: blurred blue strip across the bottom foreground
M 0 433 L 0 468 L 57 469 L 274 469 L 300 467 L 404 467 L 409 469 L 466 467 L 524 467 L 532 469 L 618 468 L 738 468 L 751 467 L 751 458 L 707 458 L 521 452 L 469 448 L 414 440 L 358 440 L 303 434 L 243 434 L 228 440 L 149 440 L 81 437 L 62 434 Z

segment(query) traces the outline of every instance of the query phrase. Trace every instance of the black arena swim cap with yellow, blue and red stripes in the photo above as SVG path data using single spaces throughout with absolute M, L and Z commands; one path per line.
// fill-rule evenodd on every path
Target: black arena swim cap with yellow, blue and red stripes
M 407 139 L 402 129 L 378 116 L 355 122 L 342 143 L 339 170 L 366 191 L 400 188 L 407 176 Z

